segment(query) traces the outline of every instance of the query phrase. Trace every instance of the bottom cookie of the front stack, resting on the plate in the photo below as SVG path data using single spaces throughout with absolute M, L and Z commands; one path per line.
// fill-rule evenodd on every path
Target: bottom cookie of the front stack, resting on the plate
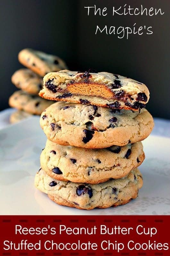
M 48 176 L 43 169 L 36 174 L 35 186 L 57 204 L 91 210 L 126 204 L 138 195 L 143 181 L 138 169 L 121 179 L 112 179 L 100 184 L 58 181 Z

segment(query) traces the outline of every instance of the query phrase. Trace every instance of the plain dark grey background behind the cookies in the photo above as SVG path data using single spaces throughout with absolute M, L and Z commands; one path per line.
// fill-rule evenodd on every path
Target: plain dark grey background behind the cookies
M 84 6 L 107 7 L 107 16 L 87 15 Z M 161 8 L 164 15 L 112 16 L 112 6 Z M 170 118 L 170 2 L 169 0 L 6 0 L 0 1 L 0 109 L 16 88 L 11 75 L 22 65 L 18 52 L 26 47 L 54 53 L 71 70 L 94 68 L 146 83 L 150 90 L 147 109 L 155 117 Z M 153 34 L 118 39 L 104 33 L 95 35 L 96 25 L 152 26 Z

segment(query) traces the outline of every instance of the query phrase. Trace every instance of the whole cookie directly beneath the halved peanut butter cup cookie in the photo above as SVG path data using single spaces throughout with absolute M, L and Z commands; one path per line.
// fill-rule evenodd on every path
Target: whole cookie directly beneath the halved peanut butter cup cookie
M 47 138 L 60 145 L 86 148 L 124 146 L 149 136 L 153 118 L 146 109 L 115 110 L 56 102 L 40 118 Z

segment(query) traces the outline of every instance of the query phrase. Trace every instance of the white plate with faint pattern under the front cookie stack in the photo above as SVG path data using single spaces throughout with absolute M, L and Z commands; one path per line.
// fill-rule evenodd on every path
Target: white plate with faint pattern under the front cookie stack
M 150 135 L 140 166 L 144 185 L 137 199 L 109 209 L 78 210 L 52 202 L 34 187 L 46 137 L 39 117 L 0 131 L 0 214 L 4 215 L 156 215 L 170 214 L 170 138 Z

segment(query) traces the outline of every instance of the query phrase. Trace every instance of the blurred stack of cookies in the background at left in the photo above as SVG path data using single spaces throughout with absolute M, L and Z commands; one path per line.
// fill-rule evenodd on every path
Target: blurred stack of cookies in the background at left
M 33 49 L 23 49 L 18 59 L 27 68 L 17 70 L 11 80 L 20 90 L 15 91 L 9 98 L 9 105 L 16 108 L 10 116 L 10 122 L 16 123 L 31 115 L 40 115 L 53 101 L 38 96 L 43 86 L 43 79 L 47 73 L 66 68 L 63 60 L 54 55 Z

